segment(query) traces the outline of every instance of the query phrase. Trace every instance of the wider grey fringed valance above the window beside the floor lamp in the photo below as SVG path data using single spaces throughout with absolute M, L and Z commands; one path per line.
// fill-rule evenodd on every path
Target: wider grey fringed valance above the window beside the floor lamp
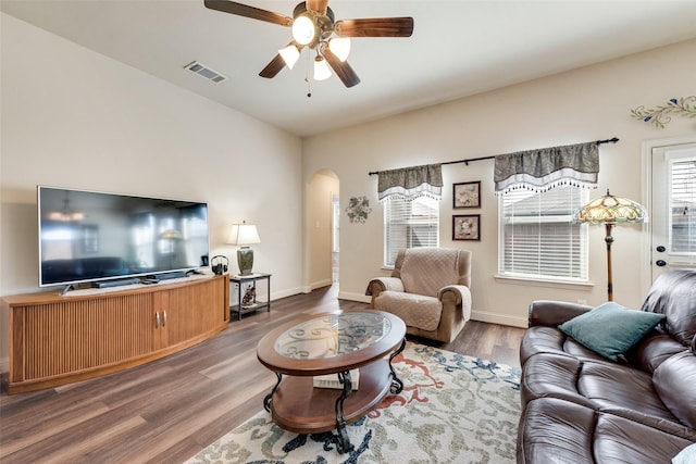
M 495 156 L 496 195 L 524 188 L 546 191 L 560 185 L 595 188 L 599 173 L 597 141 Z

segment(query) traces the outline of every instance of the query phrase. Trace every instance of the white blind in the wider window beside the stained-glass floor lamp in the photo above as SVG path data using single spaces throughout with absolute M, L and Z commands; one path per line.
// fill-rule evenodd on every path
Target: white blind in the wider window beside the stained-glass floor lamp
M 574 186 L 500 196 L 499 274 L 586 280 L 587 227 L 573 224 L 572 214 L 587 197 Z

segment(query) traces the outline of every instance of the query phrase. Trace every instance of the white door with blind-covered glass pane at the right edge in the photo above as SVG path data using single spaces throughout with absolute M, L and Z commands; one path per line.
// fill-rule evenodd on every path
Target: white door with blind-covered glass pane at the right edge
M 650 274 L 696 267 L 696 143 L 654 147 Z

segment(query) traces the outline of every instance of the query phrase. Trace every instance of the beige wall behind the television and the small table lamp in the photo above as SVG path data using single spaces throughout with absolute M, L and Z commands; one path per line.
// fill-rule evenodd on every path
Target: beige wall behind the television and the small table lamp
M 273 273 L 272 298 L 301 291 L 298 137 L 12 16 L 0 20 L 0 294 L 37 290 L 37 185 L 207 201 L 211 255 L 232 258 L 237 272 L 236 248 L 225 244 L 229 225 L 254 223 L 254 268 Z

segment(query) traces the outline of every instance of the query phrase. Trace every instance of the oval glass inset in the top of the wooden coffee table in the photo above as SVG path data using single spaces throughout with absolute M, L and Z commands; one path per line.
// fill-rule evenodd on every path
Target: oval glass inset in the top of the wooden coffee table
M 380 313 L 325 314 L 285 330 L 274 348 L 279 355 L 297 360 L 336 358 L 378 343 L 390 330 L 390 319 Z

